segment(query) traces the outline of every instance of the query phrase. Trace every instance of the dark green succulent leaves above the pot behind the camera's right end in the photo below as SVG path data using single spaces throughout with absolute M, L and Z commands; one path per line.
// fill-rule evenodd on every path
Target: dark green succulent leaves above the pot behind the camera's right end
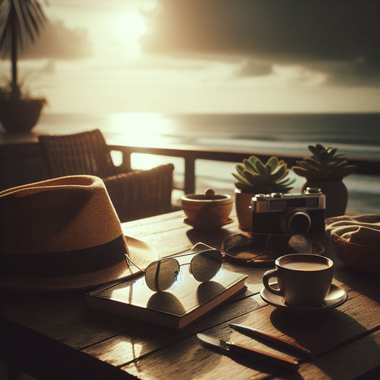
M 297 160 L 292 170 L 308 180 L 342 180 L 356 170 L 349 165 L 344 155 L 337 155 L 337 148 L 324 148 L 321 144 L 309 145 L 312 153 L 303 160 Z

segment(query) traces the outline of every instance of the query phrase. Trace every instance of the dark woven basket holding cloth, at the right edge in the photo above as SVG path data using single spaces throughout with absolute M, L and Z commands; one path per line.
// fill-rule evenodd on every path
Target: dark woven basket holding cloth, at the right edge
M 363 272 L 380 273 L 380 246 L 360 245 L 333 236 L 335 251 L 342 262 Z

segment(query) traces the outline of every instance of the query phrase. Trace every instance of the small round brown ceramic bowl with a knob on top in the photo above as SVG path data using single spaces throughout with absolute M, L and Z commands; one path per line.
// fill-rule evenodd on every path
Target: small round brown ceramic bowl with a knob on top
M 229 218 L 233 200 L 227 194 L 215 194 L 212 189 L 205 194 L 187 194 L 181 198 L 185 222 L 195 228 L 218 228 L 232 220 Z

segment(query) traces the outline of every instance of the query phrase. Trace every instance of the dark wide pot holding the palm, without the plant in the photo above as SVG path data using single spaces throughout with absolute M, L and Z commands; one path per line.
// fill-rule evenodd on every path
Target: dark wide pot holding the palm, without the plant
M 29 132 L 36 125 L 44 99 L 1 99 L 0 121 L 7 132 Z

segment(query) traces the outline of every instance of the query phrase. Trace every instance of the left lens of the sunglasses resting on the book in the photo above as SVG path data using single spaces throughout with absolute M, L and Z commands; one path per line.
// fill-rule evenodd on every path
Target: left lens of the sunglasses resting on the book
M 145 281 L 149 289 L 163 292 L 169 289 L 180 272 L 180 265 L 175 259 L 163 259 L 152 262 L 145 271 Z

